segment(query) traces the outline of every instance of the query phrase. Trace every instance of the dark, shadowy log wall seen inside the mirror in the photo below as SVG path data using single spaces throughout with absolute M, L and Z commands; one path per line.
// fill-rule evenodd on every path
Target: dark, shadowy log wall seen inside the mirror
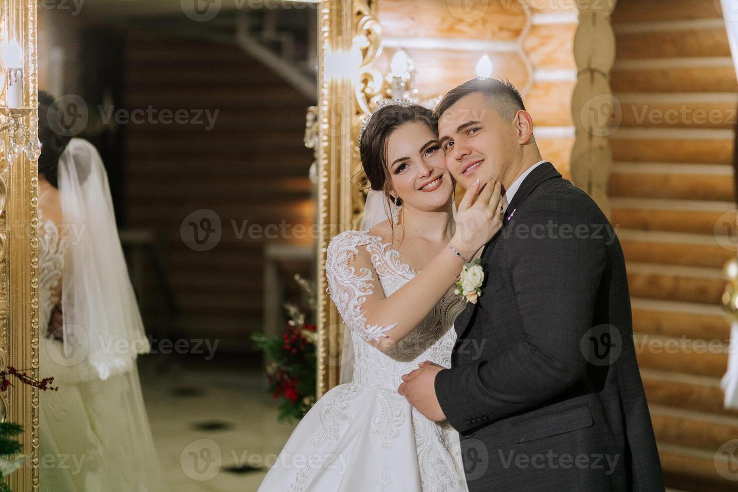
M 264 247 L 314 242 L 313 156 L 303 143 L 311 101 L 233 44 L 133 33 L 126 63 L 128 110 L 219 111 L 207 131 L 126 125 L 127 225 L 159 238 L 180 309 L 177 335 L 220 339 L 222 352 L 248 350 L 249 334 L 263 330 Z M 221 239 L 207 251 L 187 246 L 180 229 L 201 209 L 221 220 Z M 263 234 L 249 237 L 244 224 L 261 226 Z M 304 264 L 288 268 L 311 276 Z M 156 322 L 159 286 L 153 271 L 147 278 L 142 309 Z M 290 276 L 285 283 L 293 285 Z

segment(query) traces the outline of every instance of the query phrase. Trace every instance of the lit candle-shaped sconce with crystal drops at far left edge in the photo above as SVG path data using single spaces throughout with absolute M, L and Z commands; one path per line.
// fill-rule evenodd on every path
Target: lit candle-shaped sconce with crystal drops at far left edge
M 5 170 L 18 159 L 21 152 L 29 160 L 38 159 L 41 142 L 38 140 L 35 108 L 24 108 L 23 105 L 26 74 L 21 45 L 17 41 L 4 40 L 1 58 L 4 80 L 0 89 L 0 132 L 3 133 L 0 159 L 4 160 L 2 169 Z

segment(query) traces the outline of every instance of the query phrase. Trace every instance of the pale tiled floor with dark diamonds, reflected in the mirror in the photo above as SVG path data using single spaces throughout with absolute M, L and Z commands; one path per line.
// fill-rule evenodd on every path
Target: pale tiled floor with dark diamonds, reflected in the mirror
M 142 359 L 144 399 L 169 490 L 256 491 L 294 428 L 277 421 L 277 401 L 266 393 L 261 370 L 215 359 Z

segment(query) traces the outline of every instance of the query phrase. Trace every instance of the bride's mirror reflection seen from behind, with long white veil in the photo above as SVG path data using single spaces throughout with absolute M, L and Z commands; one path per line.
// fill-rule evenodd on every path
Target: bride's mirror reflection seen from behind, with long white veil
M 92 144 L 54 131 L 53 97 L 38 100 L 38 353 L 59 388 L 40 395 L 41 490 L 162 491 L 106 170 Z

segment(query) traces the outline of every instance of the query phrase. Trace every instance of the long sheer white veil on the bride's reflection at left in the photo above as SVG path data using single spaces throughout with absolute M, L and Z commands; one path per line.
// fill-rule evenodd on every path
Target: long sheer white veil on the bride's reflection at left
M 75 231 L 62 276 L 63 340 L 87 350 L 85 373 L 107 379 L 130 371 L 148 353 L 123 248 L 108 176 L 97 149 L 72 139 L 59 158 L 58 188 L 65 226 Z M 80 345 L 81 344 L 81 345 Z

